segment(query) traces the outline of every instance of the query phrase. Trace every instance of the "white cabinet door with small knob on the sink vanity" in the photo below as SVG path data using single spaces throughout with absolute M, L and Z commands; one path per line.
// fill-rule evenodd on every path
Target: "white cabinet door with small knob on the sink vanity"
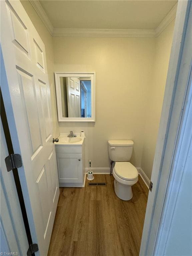
M 83 182 L 82 154 L 57 153 L 59 183 Z

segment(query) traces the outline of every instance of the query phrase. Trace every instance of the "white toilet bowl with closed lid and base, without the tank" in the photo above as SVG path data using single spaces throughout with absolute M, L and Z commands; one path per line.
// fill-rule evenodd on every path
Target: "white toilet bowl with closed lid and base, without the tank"
M 122 200 L 133 197 L 132 186 L 138 181 L 138 171 L 129 162 L 116 162 L 113 168 L 115 194 Z

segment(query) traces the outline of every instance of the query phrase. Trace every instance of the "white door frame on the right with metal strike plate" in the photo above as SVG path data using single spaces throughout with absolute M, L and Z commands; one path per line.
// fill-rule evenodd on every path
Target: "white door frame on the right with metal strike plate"
M 174 178 L 173 173 L 176 172 L 175 157 L 181 154 L 179 139 L 185 135 L 184 127 L 187 121 L 185 115 L 191 97 L 189 93 L 192 88 L 189 80 L 191 72 L 189 13 L 191 12 L 191 1 L 179 0 L 151 176 L 153 188 L 152 192 L 149 192 L 147 202 L 140 256 L 157 255 L 162 233 L 162 216 L 165 213 L 173 215 L 172 207 L 166 202 L 167 192 L 171 189 Z

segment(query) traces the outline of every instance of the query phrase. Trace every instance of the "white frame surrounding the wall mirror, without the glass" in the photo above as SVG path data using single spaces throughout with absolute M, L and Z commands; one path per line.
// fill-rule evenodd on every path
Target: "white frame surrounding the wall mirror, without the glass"
M 91 78 L 91 117 L 63 117 L 61 103 L 60 77 L 90 77 Z M 59 122 L 95 122 L 95 72 L 55 72 L 55 87 L 57 96 L 57 113 Z

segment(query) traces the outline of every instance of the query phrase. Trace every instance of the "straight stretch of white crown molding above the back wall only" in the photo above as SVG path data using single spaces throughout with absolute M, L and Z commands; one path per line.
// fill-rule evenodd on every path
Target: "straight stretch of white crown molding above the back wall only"
M 53 36 L 79 37 L 155 37 L 154 29 L 75 29 L 54 28 Z

